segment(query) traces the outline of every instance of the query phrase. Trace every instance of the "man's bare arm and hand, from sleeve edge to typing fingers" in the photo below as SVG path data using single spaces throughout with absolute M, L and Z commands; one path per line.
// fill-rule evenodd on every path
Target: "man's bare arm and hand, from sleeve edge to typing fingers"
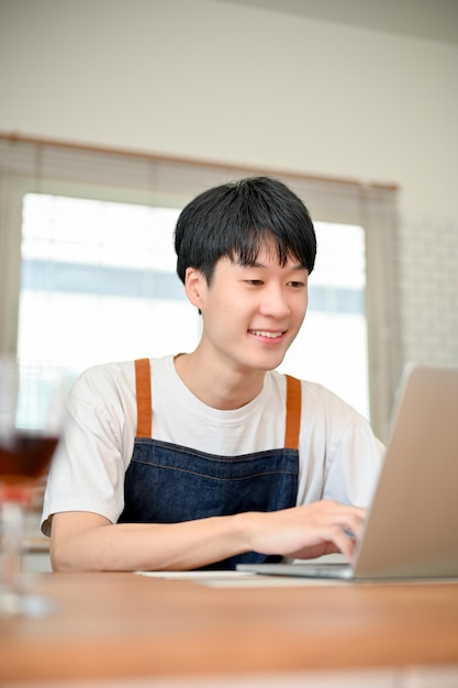
M 364 509 L 333 501 L 166 524 L 67 512 L 53 518 L 51 556 L 63 572 L 188 570 L 252 551 L 293 558 L 342 552 L 349 559 L 365 518 Z

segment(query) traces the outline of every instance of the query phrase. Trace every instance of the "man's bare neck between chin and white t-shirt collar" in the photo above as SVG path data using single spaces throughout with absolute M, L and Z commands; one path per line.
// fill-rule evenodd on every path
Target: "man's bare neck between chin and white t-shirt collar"
M 259 395 L 264 370 L 231 368 L 223 362 L 209 362 L 198 347 L 192 354 L 175 358 L 175 368 L 182 382 L 200 401 L 213 409 L 239 409 Z

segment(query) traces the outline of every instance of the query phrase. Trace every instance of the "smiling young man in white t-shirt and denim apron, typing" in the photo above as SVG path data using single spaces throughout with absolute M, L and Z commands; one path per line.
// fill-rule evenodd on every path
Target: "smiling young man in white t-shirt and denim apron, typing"
M 242 179 L 191 201 L 175 245 L 201 340 L 77 380 L 44 502 L 54 569 L 351 558 L 382 446 L 331 391 L 275 370 L 308 308 L 306 208 Z

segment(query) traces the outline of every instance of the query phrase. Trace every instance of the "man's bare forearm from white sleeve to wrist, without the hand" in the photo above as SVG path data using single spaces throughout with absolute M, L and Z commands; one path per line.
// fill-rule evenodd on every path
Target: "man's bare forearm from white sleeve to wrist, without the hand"
M 244 514 L 183 523 L 111 524 L 96 514 L 53 519 L 56 572 L 188 570 L 247 551 Z

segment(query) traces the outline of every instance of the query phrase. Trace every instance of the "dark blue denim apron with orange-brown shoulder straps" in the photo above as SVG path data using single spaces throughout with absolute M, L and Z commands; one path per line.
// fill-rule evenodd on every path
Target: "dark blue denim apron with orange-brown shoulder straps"
M 137 432 L 125 474 L 120 523 L 178 523 L 244 511 L 295 506 L 299 475 L 301 382 L 287 376 L 284 446 L 242 456 L 220 456 L 154 440 L 149 359 L 135 362 Z M 247 552 L 210 564 L 280 562 L 281 555 Z

